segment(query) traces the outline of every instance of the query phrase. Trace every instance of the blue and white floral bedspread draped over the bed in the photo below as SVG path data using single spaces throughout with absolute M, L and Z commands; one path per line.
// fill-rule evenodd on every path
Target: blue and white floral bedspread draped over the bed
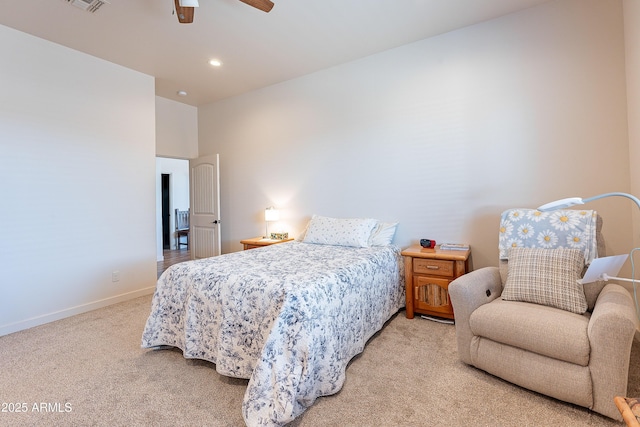
M 142 347 L 249 379 L 246 424 L 284 425 L 338 392 L 349 360 L 404 305 L 397 246 L 281 243 L 170 267 Z

